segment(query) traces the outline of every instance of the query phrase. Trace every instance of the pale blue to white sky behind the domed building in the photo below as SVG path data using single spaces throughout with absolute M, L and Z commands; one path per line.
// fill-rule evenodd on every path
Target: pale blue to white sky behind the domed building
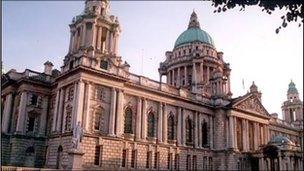
M 4 1 L 2 7 L 4 69 L 42 72 L 47 60 L 60 69 L 69 47 L 68 25 L 83 11 L 84 1 Z M 303 27 L 289 23 L 276 34 L 284 11 L 268 15 L 258 7 L 214 9 L 201 1 L 112 1 L 110 13 L 122 28 L 119 55 L 131 72 L 158 80 L 159 63 L 195 10 L 201 28 L 230 63 L 233 97 L 244 95 L 254 81 L 268 112 L 281 117 L 291 79 L 303 96 Z

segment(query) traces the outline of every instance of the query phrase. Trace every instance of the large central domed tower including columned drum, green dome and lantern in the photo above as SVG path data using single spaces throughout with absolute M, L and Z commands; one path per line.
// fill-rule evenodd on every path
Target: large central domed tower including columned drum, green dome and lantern
M 224 62 L 223 53 L 216 50 L 211 36 L 201 29 L 194 11 L 187 30 L 177 38 L 173 50 L 166 52 L 159 73 L 160 79 L 167 77 L 167 84 L 192 93 L 231 96 L 229 64 Z

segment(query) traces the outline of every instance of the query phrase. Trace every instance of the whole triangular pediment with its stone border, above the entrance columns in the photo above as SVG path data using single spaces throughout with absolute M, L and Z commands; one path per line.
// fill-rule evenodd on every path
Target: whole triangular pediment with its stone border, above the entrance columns
M 269 113 L 261 103 L 260 99 L 253 94 L 233 104 L 232 107 L 242 111 L 247 111 L 251 113 L 253 112 L 260 115 L 269 116 Z

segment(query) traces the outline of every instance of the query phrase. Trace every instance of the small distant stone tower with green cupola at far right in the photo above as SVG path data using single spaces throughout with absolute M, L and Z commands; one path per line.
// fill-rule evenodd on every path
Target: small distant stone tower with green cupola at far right
M 287 100 L 282 105 L 283 119 L 289 123 L 303 122 L 303 102 L 293 81 L 289 83 Z

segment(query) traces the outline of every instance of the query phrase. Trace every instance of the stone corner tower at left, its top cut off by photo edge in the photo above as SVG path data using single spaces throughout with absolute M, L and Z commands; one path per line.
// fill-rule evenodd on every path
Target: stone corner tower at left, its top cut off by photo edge
M 118 56 L 120 25 L 118 18 L 109 14 L 107 0 L 85 1 L 83 13 L 69 26 L 70 46 L 61 67 L 63 73 L 77 66 L 109 72 L 125 67 Z

